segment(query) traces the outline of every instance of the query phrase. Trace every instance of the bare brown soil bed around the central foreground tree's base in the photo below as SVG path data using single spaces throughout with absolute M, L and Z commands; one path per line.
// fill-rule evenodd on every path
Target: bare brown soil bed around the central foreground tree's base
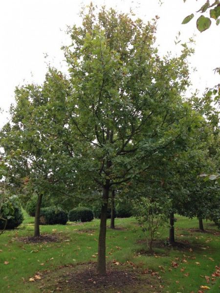
M 157 275 L 114 263 L 109 264 L 107 274 L 101 276 L 96 272 L 96 263 L 89 262 L 61 266 L 53 272 L 42 274 L 38 288 L 43 293 L 160 293 L 160 284 Z

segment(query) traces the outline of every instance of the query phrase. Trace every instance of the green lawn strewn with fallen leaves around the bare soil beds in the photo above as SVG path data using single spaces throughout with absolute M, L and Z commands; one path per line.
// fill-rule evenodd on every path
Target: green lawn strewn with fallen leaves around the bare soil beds
M 108 225 L 110 223 L 108 222 Z M 156 247 L 155 254 L 141 254 L 146 249 L 142 230 L 134 218 L 116 219 L 118 230 L 107 230 L 107 260 L 120 263 L 131 261 L 141 270 L 146 268 L 159 272 L 165 293 L 197 293 L 201 285 L 210 287 L 209 292 L 220 291 L 220 278 L 211 283 L 215 266 L 220 265 L 220 235 L 210 222 L 204 222 L 208 233 L 197 229 L 197 219 L 177 216 L 176 241 L 188 241 L 187 248 Z M 90 223 L 67 223 L 66 226 L 41 226 L 41 233 L 59 234 L 61 242 L 47 244 L 24 244 L 17 239 L 32 236 L 34 218 L 25 214 L 25 220 L 16 230 L 0 236 L 0 292 L 39 293 L 38 282 L 29 282 L 36 272 L 54 271 L 66 264 L 96 260 L 99 220 Z M 215 232 L 217 232 L 215 234 Z M 160 231 L 164 242 L 168 228 Z M 4 262 L 9 262 L 4 264 Z M 177 266 L 173 267 L 172 262 Z M 210 283 L 205 276 L 210 277 Z

